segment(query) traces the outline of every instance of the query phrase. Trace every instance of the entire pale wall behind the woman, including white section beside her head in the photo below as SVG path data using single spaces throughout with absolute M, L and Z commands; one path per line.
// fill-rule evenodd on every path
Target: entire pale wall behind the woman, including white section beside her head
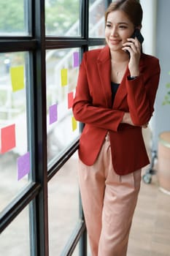
M 144 11 L 142 34 L 144 52 L 158 57 L 161 64 L 161 80 L 155 99 L 155 112 L 150 122 L 152 149 L 158 146 L 158 135 L 170 130 L 170 105 L 163 106 L 165 84 L 170 82 L 170 1 L 141 0 Z

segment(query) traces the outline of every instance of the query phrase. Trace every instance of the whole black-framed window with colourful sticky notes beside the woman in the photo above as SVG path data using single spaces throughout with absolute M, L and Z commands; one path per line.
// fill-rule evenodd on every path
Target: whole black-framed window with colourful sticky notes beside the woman
M 0 255 L 87 255 L 72 99 L 109 2 L 0 3 Z

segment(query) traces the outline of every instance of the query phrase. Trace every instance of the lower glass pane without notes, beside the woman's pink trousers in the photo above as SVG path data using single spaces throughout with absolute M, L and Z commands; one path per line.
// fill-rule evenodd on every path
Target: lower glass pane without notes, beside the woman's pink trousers
M 48 182 L 50 255 L 61 255 L 79 221 L 77 154 Z

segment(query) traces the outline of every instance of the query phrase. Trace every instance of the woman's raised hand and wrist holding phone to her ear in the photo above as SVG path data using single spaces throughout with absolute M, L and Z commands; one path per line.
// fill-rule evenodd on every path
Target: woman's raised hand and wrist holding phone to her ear
M 141 57 L 141 44 L 139 40 L 135 37 L 128 38 L 128 42 L 123 44 L 123 50 L 128 50 L 130 53 L 130 60 L 128 62 L 128 69 L 131 73 L 131 76 L 139 75 L 139 60 Z

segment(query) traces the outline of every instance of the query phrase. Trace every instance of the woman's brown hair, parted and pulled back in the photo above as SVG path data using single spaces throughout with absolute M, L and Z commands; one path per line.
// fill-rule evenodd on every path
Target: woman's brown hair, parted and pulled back
M 107 11 L 105 12 L 105 23 L 107 23 L 107 16 L 109 12 L 120 10 L 125 12 L 129 20 L 135 27 L 142 26 L 143 11 L 141 4 L 137 0 L 116 0 L 109 4 Z

